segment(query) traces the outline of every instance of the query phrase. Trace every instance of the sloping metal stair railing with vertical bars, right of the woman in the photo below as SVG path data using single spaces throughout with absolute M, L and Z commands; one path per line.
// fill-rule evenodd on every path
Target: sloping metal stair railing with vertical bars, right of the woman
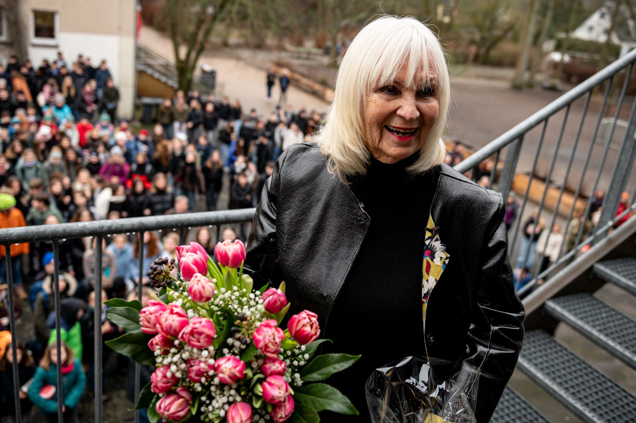
M 622 137 L 622 140 L 619 141 L 620 147 L 618 154 L 613 161 L 608 160 L 610 146 L 616 144 L 612 142 L 612 138 L 614 137 L 616 123 L 620 121 L 619 116 L 621 116 L 623 102 L 626 99 L 628 91 L 633 89 L 630 86 L 630 78 L 632 77 L 634 62 L 636 62 L 636 50 L 632 50 L 632 52 L 627 53 L 620 59 L 616 60 L 616 62 L 605 67 L 597 74 L 588 78 L 588 80 L 583 81 L 583 83 L 572 88 L 561 97 L 558 97 L 558 99 L 532 114 L 529 118 L 518 123 L 518 125 L 500 135 L 494 139 L 494 141 L 488 143 L 486 146 L 476 151 L 476 153 L 466 158 L 466 160 L 463 160 L 455 166 L 455 169 L 464 174 L 468 174 L 473 177 L 473 179 L 476 179 L 480 163 L 487 163 L 490 161 L 492 164 L 492 170 L 490 170 L 488 181 L 485 183 L 486 188 L 501 192 L 506 200 L 513 188 L 516 188 L 516 191 L 523 192 L 522 203 L 520 207 L 518 207 L 518 213 L 513 221 L 513 225 L 509 227 L 509 240 L 511 240 L 511 242 L 509 242 L 509 256 L 511 257 L 513 268 L 528 268 L 532 277 L 531 281 L 518 292 L 522 298 L 534 289 L 537 281 L 541 279 L 548 279 L 548 277 L 555 274 L 555 272 L 562 268 L 567 261 L 574 258 L 577 251 L 580 251 L 581 247 L 590 244 L 589 241 L 585 240 L 586 237 L 593 234 L 593 242 L 598 242 L 598 240 L 602 239 L 605 233 L 607 233 L 607 230 L 612 227 L 612 225 L 608 226 L 607 223 L 613 222 L 614 217 L 617 214 L 618 206 L 621 201 L 621 193 L 625 191 L 628 184 L 632 186 L 632 188 L 636 188 L 636 181 L 630 179 L 630 176 L 632 176 L 634 158 L 636 156 L 634 139 L 636 129 L 634 122 L 636 99 L 633 97 L 630 112 L 626 119 L 627 125 L 625 134 Z M 598 98 L 599 96 L 595 94 L 597 88 L 602 90 L 604 93 L 602 95 L 602 100 L 600 100 Z M 633 93 L 630 94 L 633 95 Z M 567 150 L 562 148 L 565 128 L 569 123 L 568 119 L 573 114 L 572 112 L 578 112 L 577 108 L 579 105 L 574 103 L 579 99 L 583 99 L 583 97 L 584 103 L 580 109 L 580 120 L 576 126 L 576 135 L 574 135 L 574 139 L 568 153 Z M 595 123 L 590 125 L 586 121 L 588 111 L 590 110 L 591 104 L 596 106 L 599 100 L 600 106 L 598 107 L 598 116 L 595 119 Z M 615 111 L 612 113 L 608 104 L 611 104 L 614 100 L 616 101 L 614 105 Z M 563 115 L 562 121 L 559 123 L 560 126 L 557 127 L 558 130 L 551 132 L 550 135 L 546 135 L 548 121 L 557 113 L 562 113 Z M 605 114 L 607 113 L 612 114 L 610 120 L 604 120 Z M 611 123 L 608 124 L 608 121 Z M 588 125 L 586 125 L 586 123 L 588 123 Z M 611 126 L 606 128 L 604 131 L 605 142 L 598 143 L 597 135 L 602 123 Z M 593 130 L 590 130 L 591 127 L 593 127 Z M 536 132 L 539 128 L 540 133 L 537 136 Z M 533 132 L 534 137 L 532 136 Z M 583 163 L 577 162 L 575 166 L 574 161 L 576 156 L 585 151 L 578 151 L 579 144 L 581 144 L 581 138 L 589 140 L 590 144 L 586 149 Z M 546 141 L 548 140 L 555 142 L 551 146 L 548 146 L 551 151 L 547 151 L 546 153 L 544 149 L 546 148 Z M 532 166 L 529 170 L 524 171 L 518 169 L 520 167 L 519 159 L 521 156 L 523 156 L 523 160 L 521 161 L 522 163 L 530 162 L 530 160 L 526 159 L 532 159 Z M 500 162 L 500 157 L 504 157 L 502 162 Z M 541 159 L 543 159 L 543 162 Z M 539 188 L 541 188 L 542 183 L 542 181 L 536 176 L 537 165 L 544 165 L 546 160 L 550 161 L 550 165 L 548 165 L 547 169 L 544 169 L 546 173 L 543 179 L 544 187 L 539 190 L 541 191 L 539 193 L 540 198 L 532 198 L 533 195 L 536 196 L 537 194 L 536 192 L 531 194 L 533 183 L 536 182 L 536 186 Z M 595 176 L 593 175 L 593 170 L 590 169 L 592 164 L 597 166 Z M 611 176 L 608 177 L 607 174 L 604 174 L 605 167 L 612 169 Z M 555 177 L 555 169 L 557 173 L 561 174 L 560 177 L 562 179 L 560 179 L 556 186 L 553 186 L 552 179 Z M 580 169 L 580 175 L 572 176 L 572 169 Z M 472 173 L 467 173 L 471 171 Z M 593 176 L 593 183 L 591 186 L 588 185 L 589 189 L 587 197 L 590 198 L 590 200 L 586 202 L 584 211 L 581 213 L 580 209 L 577 210 L 577 203 L 579 198 L 583 195 L 586 176 Z M 515 185 L 514 182 L 516 178 L 518 178 L 518 183 Z M 567 193 L 568 197 L 572 201 L 572 205 L 569 208 L 569 212 L 567 212 L 567 218 L 564 220 L 565 225 L 563 225 L 563 228 L 565 228 L 565 233 L 559 234 L 559 236 L 562 236 L 563 239 L 558 247 L 558 258 L 547 268 L 541 270 L 540 267 L 543 261 L 543 256 L 548 249 L 550 237 L 553 235 L 552 228 L 555 223 L 558 223 L 557 218 L 560 218 L 560 220 L 563 221 L 563 217 L 565 217 L 565 214 L 560 213 L 560 209 L 562 208 L 562 201 L 566 188 L 572 183 L 576 185 L 576 188 Z M 546 195 L 548 195 L 549 192 L 552 194 L 551 197 L 554 197 L 557 188 L 558 196 L 556 200 L 554 198 L 550 198 L 550 201 L 546 200 Z M 602 202 L 602 207 L 600 207 L 600 217 L 595 219 L 597 222 L 593 225 L 593 229 L 590 231 L 589 226 L 586 225 L 586 223 L 590 219 L 591 207 L 593 205 L 591 195 L 599 188 L 605 190 L 605 196 Z M 570 194 L 572 191 L 573 194 Z M 633 204 L 635 199 L 636 191 L 634 191 L 631 196 L 629 204 Z M 529 204 L 532 202 L 538 203 L 533 214 L 536 215 L 536 217 L 534 218 L 534 222 L 530 223 L 528 228 L 523 228 L 522 222 L 524 220 L 529 221 L 524 212 L 527 211 L 527 207 L 529 207 Z M 548 204 L 546 204 L 548 202 L 551 203 L 551 213 L 547 207 Z M 574 216 L 575 212 L 576 214 L 580 214 L 580 216 Z M 544 214 L 547 216 L 550 216 L 551 214 L 550 224 L 544 225 L 544 228 L 550 232 L 548 233 L 548 237 L 544 244 L 537 248 L 537 241 L 532 240 L 532 238 L 538 236 L 538 233 L 541 232 L 541 226 L 543 225 L 540 223 L 543 220 Z M 576 228 L 576 226 L 578 226 L 578 228 Z M 531 230 L 527 233 L 526 230 L 530 227 Z M 539 232 L 537 232 L 537 228 L 539 228 Z M 588 228 L 588 230 L 586 230 L 586 228 Z M 603 228 L 601 233 L 597 233 L 598 228 Z M 572 232 L 576 232 L 576 236 L 570 233 L 570 230 Z M 526 237 L 526 235 L 529 234 L 532 235 L 530 237 Z M 570 249 L 570 251 L 564 251 L 566 240 L 570 240 L 571 243 L 572 239 L 574 239 L 574 247 Z M 521 240 L 520 246 L 517 246 L 517 240 Z M 535 254 L 535 249 L 537 250 L 537 254 Z M 538 257 L 535 257 L 535 255 Z M 534 258 L 534 260 L 532 260 L 532 258 Z M 536 260 L 537 258 L 539 260 Z M 519 270 L 517 270 L 517 272 L 518 271 Z

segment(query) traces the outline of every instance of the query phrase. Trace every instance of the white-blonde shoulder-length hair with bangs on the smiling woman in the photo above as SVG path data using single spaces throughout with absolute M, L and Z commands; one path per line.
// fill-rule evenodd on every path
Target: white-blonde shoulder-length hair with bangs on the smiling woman
M 347 176 L 365 174 L 370 161 L 364 142 L 367 95 L 378 84 L 391 84 L 407 62 L 404 85 L 414 89 L 428 87 L 433 83 L 429 80 L 430 69 L 437 78 L 434 84 L 439 101 L 438 119 L 420 149 L 418 160 L 408 170 L 416 174 L 444 161 L 446 146 L 441 134 L 450 103 L 444 51 L 427 25 L 413 17 L 384 15 L 366 25 L 347 48 L 325 124 L 314 136 L 322 154 L 328 156 L 329 172 L 337 174 L 343 183 L 347 183 Z M 424 76 L 423 86 L 415 87 L 420 76 Z

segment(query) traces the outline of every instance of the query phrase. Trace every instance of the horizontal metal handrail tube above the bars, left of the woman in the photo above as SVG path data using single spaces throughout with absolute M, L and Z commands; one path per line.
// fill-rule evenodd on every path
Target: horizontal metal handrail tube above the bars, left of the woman
M 235 209 L 6 228 L 0 232 L 2 235 L 0 244 L 17 244 L 20 242 L 36 242 L 52 239 L 73 239 L 92 237 L 95 235 L 139 232 L 140 230 L 151 231 L 165 228 L 225 225 L 226 223 L 252 221 L 255 212 L 256 208 Z

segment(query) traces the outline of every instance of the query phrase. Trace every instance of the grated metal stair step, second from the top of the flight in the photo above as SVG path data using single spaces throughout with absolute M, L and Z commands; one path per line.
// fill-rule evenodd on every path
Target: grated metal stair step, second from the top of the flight
M 546 301 L 546 311 L 636 369 L 636 321 L 588 293 Z

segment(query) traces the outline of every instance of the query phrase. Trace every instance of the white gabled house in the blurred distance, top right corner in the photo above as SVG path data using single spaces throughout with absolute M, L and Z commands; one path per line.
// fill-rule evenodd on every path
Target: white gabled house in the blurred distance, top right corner
M 592 13 L 572 32 L 572 38 L 605 43 L 607 32 L 611 26 L 612 13 L 614 13 L 614 4 L 613 1 L 606 1 L 600 9 Z M 620 46 L 620 55 L 622 56 L 636 48 L 636 23 L 630 18 L 629 10 L 625 4 L 620 5 L 618 17 L 610 37 L 610 43 Z

